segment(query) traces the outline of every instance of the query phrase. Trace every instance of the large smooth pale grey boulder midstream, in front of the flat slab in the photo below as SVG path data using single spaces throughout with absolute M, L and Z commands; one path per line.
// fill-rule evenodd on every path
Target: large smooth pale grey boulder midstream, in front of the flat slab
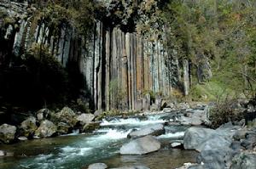
M 153 136 L 131 140 L 120 149 L 121 155 L 145 155 L 160 149 L 160 142 Z

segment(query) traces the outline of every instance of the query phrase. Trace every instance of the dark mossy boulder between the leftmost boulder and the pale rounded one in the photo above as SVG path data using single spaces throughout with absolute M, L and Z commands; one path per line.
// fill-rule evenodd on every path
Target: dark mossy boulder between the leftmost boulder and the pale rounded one
M 36 118 L 33 116 L 28 117 L 26 121 L 21 122 L 20 135 L 26 138 L 32 137 L 37 129 Z

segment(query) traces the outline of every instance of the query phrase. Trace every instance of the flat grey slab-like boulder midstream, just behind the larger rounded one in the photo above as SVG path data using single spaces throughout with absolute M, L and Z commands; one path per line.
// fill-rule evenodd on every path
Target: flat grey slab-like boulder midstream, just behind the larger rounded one
M 128 134 L 128 138 L 141 138 L 143 136 L 147 135 L 153 135 L 153 136 L 159 136 L 161 134 L 165 133 L 165 127 L 162 124 L 155 124 L 143 127 L 140 130 L 130 132 Z

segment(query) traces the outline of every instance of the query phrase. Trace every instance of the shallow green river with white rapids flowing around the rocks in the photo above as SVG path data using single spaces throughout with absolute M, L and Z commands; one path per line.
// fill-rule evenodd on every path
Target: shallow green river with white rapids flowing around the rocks
M 183 138 L 187 127 L 169 125 L 166 133 L 158 136 L 162 148 L 148 155 L 119 155 L 119 148 L 129 141 L 132 129 L 172 121 L 168 114 L 109 117 L 102 121 L 100 129 L 92 134 L 73 134 L 57 138 L 43 138 L 0 145 L 0 149 L 14 155 L 0 158 L 1 169 L 79 169 L 91 163 L 104 162 L 109 167 L 148 166 L 151 169 L 167 169 L 195 162 L 195 151 L 170 148 L 172 140 Z

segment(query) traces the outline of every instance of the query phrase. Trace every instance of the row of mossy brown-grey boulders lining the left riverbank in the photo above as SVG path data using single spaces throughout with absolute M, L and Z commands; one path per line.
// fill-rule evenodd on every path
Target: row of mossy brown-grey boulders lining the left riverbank
M 49 138 L 74 130 L 79 132 L 91 132 L 99 126 L 98 121 L 94 121 L 96 115 L 82 114 L 74 112 L 68 107 L 54 113 L 48 109 L 38 110 L 35 115 L 30 115 L 20 126 L 3 124 L 0 126 L 0 142 L 12 144 L 18 140 L 24 141 L 32 138 Z

